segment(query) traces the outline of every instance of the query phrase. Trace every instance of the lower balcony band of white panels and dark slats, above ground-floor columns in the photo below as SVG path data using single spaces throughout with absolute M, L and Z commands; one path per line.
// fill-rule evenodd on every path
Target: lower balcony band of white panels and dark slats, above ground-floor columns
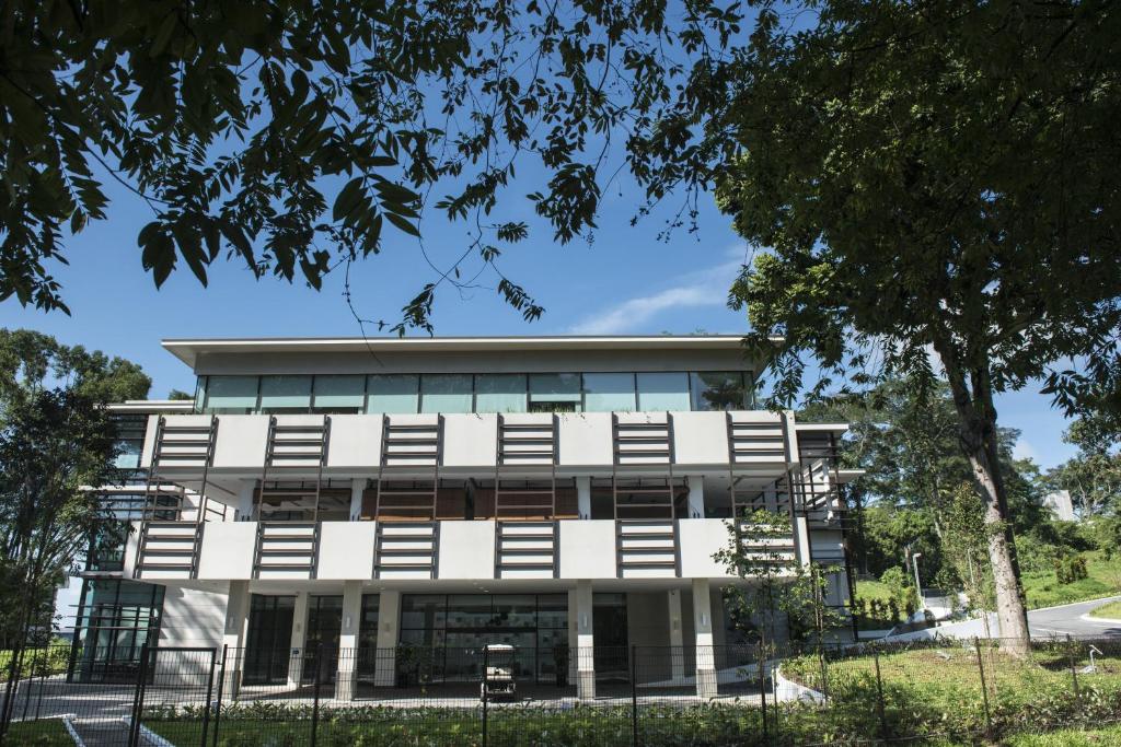
M 721 519 L 149 524 L 126 573 L 164 582 L 726 578 L 712 555 L 731 536 Z M 141 541 L 175 555 L 138 555 Z

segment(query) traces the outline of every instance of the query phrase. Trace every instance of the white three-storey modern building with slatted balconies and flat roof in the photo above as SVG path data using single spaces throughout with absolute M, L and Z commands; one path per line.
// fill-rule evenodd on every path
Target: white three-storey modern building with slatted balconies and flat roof
M 448 652 L 506 643 L 520 679 L 583 698 L 630 646 L 673 647 L 665 676 L 712 694 L 744 634 L 714 554 L 759 508 L 791 523 L 766 550 L 835 567 L 847 601 L 844 426 L 757 409 L 736 337 L 164 346 L 196 396 L 122 405 L 146 418 L 145 485 L 105 572 L 155 590 L 150 644 L 243 652 L 235 691 L 298 685 L 294 655 L 326 648 L 353 652 L 336 698 L 376 695 L 417 652 L 467 679 Z

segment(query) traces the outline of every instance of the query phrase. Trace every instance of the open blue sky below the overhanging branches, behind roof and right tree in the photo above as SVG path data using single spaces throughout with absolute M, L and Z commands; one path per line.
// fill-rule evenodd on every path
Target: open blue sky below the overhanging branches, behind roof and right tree
M 532 181 L 534 175 L 519 177 Z M 516 185 L 504 213 L 529 220 L 530 239 L 506 251 L 503 271 L 535 295 L 546 308 L 536 323 L 525 323 L 504 306 L 492 288 L 441 291 L 435 307 L 436 334 L 657 334 L 661 332 L 740 333 L 742 315 L 725 306 L 728 287 L 747 253 L 728 217 L 702 198 L 700 231 L 677 228 L 666 240 L 659 233 L 679 204 L 667 204 L 631 226 L 638 193 L 617 184 L 604 198 L 599 228 L 591 242 L 565 246 L 552 241 L 547 226 L 534 222 L 520 195 L 536 184 Z M 106 184 L 113 200 L 110 221 L 91 224 L 66 241 L 68 267 L 52 271 L 63 283 L 73 310 L 44 314 L 0 304 L 0 324 L 29 327 L 67 344 L 83 344 L 140 363 L 152 376 L 154 396 L 170 389 L 192 391 L 191 371 L 166 353 L 165 337 L 350 336 L 360 330 L 342 296 L 342 274 L 331 277 L 322 291 L 300 282 L 268 278 L 254 281 L 233 262 L 212 268 L 210 288 L 203 288 L 185 268 L 173 273 L 160 290 L 143 272 L 136 236 L 150 220 L 148 208 L 114 183 Z M 437 267 L 465 246 L 462 223 L 433 215 L 424 224 L 425 248 Z M 358 312 L 365 318 L 397 321 L 399 309 L 434 271 L 424 262 L 415 240 L 387 232 L 385 251 L 356 264 L 351 284 Z M 484 286 L 493 279 L 483 277 Z M 372 333 L 376 334 L 376 333 Z M 1063 443 L 1063 417 L 1051 409 L 1038 385 L 1002 395 L 1002 424 L 1022 431 L 1021 456 L 1043 467 L 1073 455 Z

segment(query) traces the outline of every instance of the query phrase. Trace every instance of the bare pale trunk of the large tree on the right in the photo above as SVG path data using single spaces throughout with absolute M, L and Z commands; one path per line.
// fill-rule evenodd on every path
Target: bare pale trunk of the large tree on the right
M 1028 654 L 1028 615 L 1020 587 L 1016 539 L 1008 515 L 1008 497 L 1000 471 L 997 443 L 997 410 L 986 371 L 971 372 L 966 386 L 962 368 L 943 356 L 961 424 L 961 443 L 973 468 L 973 479 L 984 501 L 984 525 L 989 563 L 997 596 L 1000 647 L 1016 656 Z

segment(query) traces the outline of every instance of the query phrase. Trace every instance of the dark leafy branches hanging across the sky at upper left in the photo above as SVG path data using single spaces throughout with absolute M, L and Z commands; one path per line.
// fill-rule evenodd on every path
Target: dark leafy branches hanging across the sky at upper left
M 720 57 L 736 4 L 6 2 L 0 299 L 66 308 L 50 265 L 64 233 L 109 215 L 111 179 L 152 213 L 138 243 L 157 286 L 180 261 L 205 284 L 225 254 L 318 288 L 435 212 L 466 224 L 463 256 L 433 267 L 395 329 L 429 328 L 437 287 L 483 273 L 536 318 L 499 268 L 529 232 L 493 215 L 516 166 L 544 169 L 527 197 L 556 241 L 594 228 L 615 143 L 694 96 L 689 60 Z

